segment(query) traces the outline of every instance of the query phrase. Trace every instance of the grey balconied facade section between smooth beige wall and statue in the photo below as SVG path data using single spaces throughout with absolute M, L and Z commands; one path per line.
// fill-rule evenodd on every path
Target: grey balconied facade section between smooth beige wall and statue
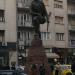
M 34 35 L 32 19 L 30 15 L 30 0 L 17 0 L 17 41 L 18 64 L 26 62 L 28 48 Z

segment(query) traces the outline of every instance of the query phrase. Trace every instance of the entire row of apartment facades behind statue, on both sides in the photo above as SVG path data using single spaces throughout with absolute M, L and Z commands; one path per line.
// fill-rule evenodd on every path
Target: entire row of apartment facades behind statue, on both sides
M 32 0 L 0 0 L 0 64 L 23 65 L 34 37 L 30 15 Z M 48 58 L 60 57 L 66 63 L 75 53 L 74 0 L 43 0 L 48 15 L 47 23 L 40 25 L 41 39 Z M 59 58 L 57 57 L 57 58 Z M 49 59 L 50 60 L 50 59 Z M 65 62 L 64 62 L 65 60 Z

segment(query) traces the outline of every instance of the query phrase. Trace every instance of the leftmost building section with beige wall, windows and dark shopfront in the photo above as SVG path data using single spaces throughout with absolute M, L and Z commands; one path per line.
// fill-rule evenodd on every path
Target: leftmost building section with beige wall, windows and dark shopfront
M 0 0 L 0 65 L 17 64 L 16 1 Z

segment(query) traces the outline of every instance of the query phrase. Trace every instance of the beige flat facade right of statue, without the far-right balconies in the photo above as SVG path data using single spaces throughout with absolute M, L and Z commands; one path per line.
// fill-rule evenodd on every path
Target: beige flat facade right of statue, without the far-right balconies
M 41 26 L 43 44 L 47 52 L 54 52 L 60 56 L 61 62 L 66 62 L 68 51 L 68 20 L 67 0 L 46 0 L 49 17 L 49 30 L 46 25 Z M 45 27 L 46 26 L 46 27 Z M 47 39 L 44 39 L 47 35 Z M 49 53 L 50 54 L 50 53 Z

